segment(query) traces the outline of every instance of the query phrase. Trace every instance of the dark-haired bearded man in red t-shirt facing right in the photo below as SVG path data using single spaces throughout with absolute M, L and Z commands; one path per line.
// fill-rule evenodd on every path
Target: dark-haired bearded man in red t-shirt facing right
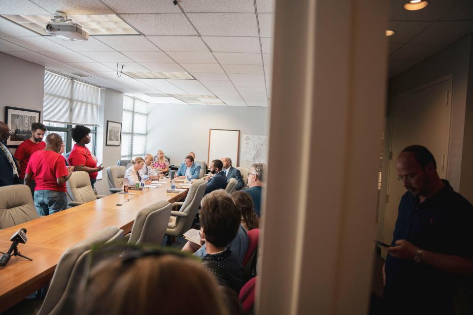
M 15 155 L 13 156 L 20 165 L 19 183 L 23 184 L 25 180 L 25 171 L 30 160 L 31 155 L 39 150 L 43 150 L 46 143 L 43 141 L 44 133 L 46 132 L 46 126 L 41 123 L 33 123 L 31 125 L 31 138 L 23 141 L 16 149 Z M 34 193 L 34 177 L 30 180 L 31 193 Z

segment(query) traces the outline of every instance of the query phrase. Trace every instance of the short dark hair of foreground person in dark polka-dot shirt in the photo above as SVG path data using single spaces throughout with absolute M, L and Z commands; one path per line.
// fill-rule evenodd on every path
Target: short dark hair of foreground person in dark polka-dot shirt
M 224 189 L 214 190 L 202 199 L 200 215 L 205 239 L 215 247 L 224 247 L 235 238 L 241 210 Z

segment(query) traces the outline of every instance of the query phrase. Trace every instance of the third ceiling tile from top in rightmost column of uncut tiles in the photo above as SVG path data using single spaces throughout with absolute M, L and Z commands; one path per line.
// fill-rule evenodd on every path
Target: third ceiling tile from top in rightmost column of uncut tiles
M 205 37 L 202 39 L 214 52 L 260 53 L 257 37 Z

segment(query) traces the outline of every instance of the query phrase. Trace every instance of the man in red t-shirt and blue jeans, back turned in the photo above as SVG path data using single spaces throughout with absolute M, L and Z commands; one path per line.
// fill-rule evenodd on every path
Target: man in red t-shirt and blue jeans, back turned
M 63 139 L 57 133 L 46 136 L 46 148 L 34 152 L 26 168 L 25 185 L 34 176 L 34 206 L 40 216 L 64 210 L 68 207 L 66 182 L 74 167 L 66 167 L 64 157 L 59 154 Z

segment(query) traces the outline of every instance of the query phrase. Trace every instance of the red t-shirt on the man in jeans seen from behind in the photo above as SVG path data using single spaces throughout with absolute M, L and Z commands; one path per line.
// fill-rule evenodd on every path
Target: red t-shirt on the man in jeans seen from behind
M 41 150 L 34 152 L 28 166 L 27 174 L 34 175 L 36 187 L 34 190 L 55 190 L 66 192 L 66 183 L 58 185 L 57 179 L 68 176 L 64 157 L 54 151 Z

